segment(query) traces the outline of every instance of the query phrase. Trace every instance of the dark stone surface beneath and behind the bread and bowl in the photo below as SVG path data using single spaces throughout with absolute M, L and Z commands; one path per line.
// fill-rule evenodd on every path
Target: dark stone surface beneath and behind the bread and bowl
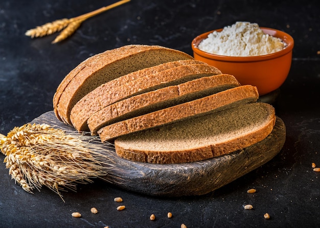
M 115 1 L 0 2 L 0 132 L 51 111 L 64 76 L 86 58 L 126 44 L 157 44 L 192 55 L 191 41 L 236 21 L 289 33 L 295 41 L 288 79 L 274 106 L 286 124 L 281 152 L 267 164 L 203 195 L 153 197 L 95 181 L 63 193 L 30 194 L 0 165 L 0 227 L 317 227 L 320 225 L 320 7 L 314 1 L 140 1 L 84 21 L 69 39 L 30 39 L 28 29 Z M 3 161 L 4 156 L 0 155 Z M 237 170 L 235 170 L 237 171 Z M 254 194 L 246 193 L 256 188 Z M 117 211 L 121 196 L 126 206 Z M 252 204 L 254 210 L 244 210 Z M 96 207 L 98 214 L 90 213 Z M 81 218 L 71 217 L 79 211 Z M 173 217 L 167 218 L 172 212 Z M 263 214 L 269 213 L 265 220 Z M 149 216 L 156 219 L 151 221 Z

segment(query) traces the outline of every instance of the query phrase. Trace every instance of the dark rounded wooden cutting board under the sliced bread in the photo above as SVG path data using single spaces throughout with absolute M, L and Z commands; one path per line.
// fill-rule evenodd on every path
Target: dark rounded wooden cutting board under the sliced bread
M 56 128 L 75 131 L 60 122 L 53 111 L 34 119 Z M 150 164 L 119 158 L 115 150 L 111 159 L 118 169 L 110 170 L 105 180 L 130 191 L 156 196 L 202 195 L 214 191 L 275 157 L 286 138 L 284 122 L 277 117 L 273 131 L 259 143 L 234 153 L 199 162 Z M 103 153 L 103 147 L 101 147 Z

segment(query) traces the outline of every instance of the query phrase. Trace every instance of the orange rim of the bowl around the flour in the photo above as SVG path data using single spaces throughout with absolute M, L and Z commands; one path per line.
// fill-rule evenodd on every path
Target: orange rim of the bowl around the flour
M 286 55 L 289 52 L 292 52 L 294 41 L 293 38 L 280 30 L 276 29 L 271 29 L 271 28 L 266 28 L 266 27 L 259 27 L 264 33 L 278 37 L 282 39 L 287 46 L 283 48 L 282 50 L 279 50 L 279 52 L 267 54 L 267 55 L 261 55 L 261 56 L 221 56 L 221 55 L 216 55 L 216 54 L 211 54 L 204 52 L 203 50 L 200 50 L 198 48 L 198 44 L 205 38 L 208 37 L 210 33 L 213 33 L 214 31 L 221 32 L 223 29 L 216 29 L 212 30 L 209 32 L 202 33 L 195 37 L 192 40 L 191 47 L 194 53 L 197 55 L 200 55 L 202 57 L 205 57 L 207 59 L 213 59 L 213 60 L 218 60 L 218 61 L 226 61 L 226 62 L 256 62 L 256 61 L 263 61 L 263 60 L 268 60 L 268 59 L 274 59 L 283 55 Z

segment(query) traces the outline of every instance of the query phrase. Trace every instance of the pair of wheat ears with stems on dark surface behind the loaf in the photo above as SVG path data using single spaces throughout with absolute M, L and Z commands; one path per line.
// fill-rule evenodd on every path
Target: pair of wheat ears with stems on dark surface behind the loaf
M 34 29 L 28 30 L 25 33 L 25 35 L 30 36 L 31 38 L 43 37 L 43 36 L 51 35 L 55 32 L 59 32 L 62 30 L 60 35 L 52 42 L 52 43 L 57 43 L 71 36 L 80 27 L 81 23 L 84 20 L 88 19 L 89 17 L 93 17 L 97 14 L 100 14 L 109 9 L 125 4 L 127 2 L 130 2 L 130 0 L 122 0 L 117 3 L 111 4 L 109 6 L 102 7 L 98 10 L 80 15 L 78 17 L 73 17 L 70 19 L 63 18 L 63 19 L 55 20 L 53 22 L 45 23 L 42 26 L 37 26 Z

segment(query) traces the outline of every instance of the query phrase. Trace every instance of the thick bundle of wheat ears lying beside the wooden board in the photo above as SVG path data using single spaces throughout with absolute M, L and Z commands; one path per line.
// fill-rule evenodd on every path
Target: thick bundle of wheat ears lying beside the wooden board
M 97 153 L 98 137 L 77 134 L 28 123 L 0 135 L 12 179 L 27 192 L 47 186 L 61 196 L 64 187 L 76 190 L 77 183 L 92 182 L 115 168 L 108 156 L 111 144 L 99 143 L 104 154 Z

